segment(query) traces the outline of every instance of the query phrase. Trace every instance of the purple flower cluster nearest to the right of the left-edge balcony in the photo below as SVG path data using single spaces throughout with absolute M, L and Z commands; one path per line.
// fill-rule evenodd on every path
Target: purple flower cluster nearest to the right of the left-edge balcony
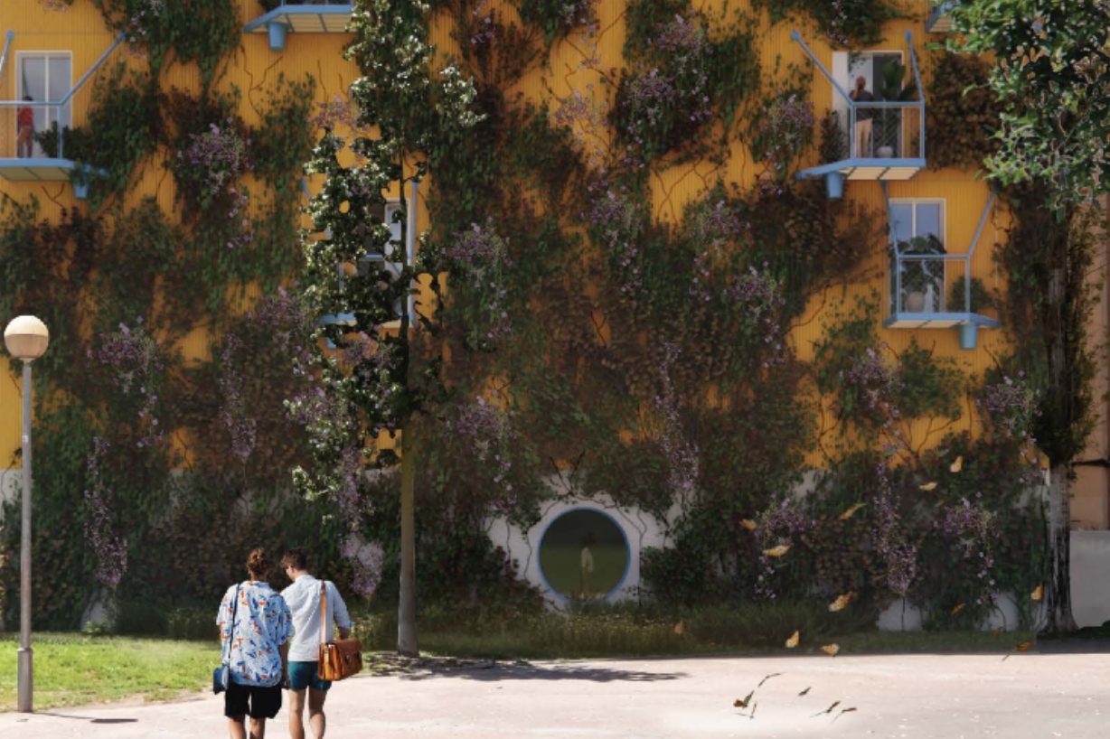
M 236 188 L 235 183 L 253 171 L 254 165 L 249 156 L 250 141 L 239 135 L 233 122 L 234 119 L 229 118 L 223 128 L 210 123 L 204 133 L 190 133 L 189 146 L 178 150 L 179 166 L 188 165 L 204 173 L 201 179 L 202 206 L 223 195 L 230 196 L 228 217 L 238 220 L 238 226 L 242 231 L 228 241 L 229 249 L 244 246 L 253 240 L 251 221 L 246 214 L 246 193 Z

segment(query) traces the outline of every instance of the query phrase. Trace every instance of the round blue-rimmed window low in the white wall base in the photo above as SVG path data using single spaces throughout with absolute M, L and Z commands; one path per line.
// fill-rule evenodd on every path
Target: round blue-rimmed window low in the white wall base
M 628 537 L 605 510 L 579 506 L 539 537 L 539 578 L 559 600 L 596 603 L 620 589 L 632 565 Z

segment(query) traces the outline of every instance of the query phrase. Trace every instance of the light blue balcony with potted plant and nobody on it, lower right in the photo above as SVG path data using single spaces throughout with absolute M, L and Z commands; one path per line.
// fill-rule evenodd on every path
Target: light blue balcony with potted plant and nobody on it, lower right
M 891 236 L 887 328 L 955 328 L 960 348 L 978 346 L 980 328 L 997 328 L 989 295 L 971 271 L 975 247 L 982 234 L 993 194 L 966 254 L 948 253 L 936 236 L 897 242 Z

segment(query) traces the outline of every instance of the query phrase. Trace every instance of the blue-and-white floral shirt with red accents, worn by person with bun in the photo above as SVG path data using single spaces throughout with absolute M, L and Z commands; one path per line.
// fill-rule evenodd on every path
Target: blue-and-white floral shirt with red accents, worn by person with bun
M 236 588 L 235 638 L 229 649 Z M 275 686 L 281 681 L 284 670 L 278 648 L 289 640 L 292 626 L 292 615 L 281 595 L 255 580 L 233 585 L 220 603 L 215 624 L 220 627 L 221 657 L 231 666 L 232 682 Z

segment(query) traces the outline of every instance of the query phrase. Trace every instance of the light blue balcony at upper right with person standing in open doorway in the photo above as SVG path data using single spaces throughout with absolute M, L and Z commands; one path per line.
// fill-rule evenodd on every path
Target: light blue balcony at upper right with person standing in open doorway
M 809 59 L 833 85 L 834 97 L 839 95 L 842 110 L 847 111 L 847 128 L 838 126 L 835 149 L 841 158 L 825 162 L 797 173 L 798 179 L 823 178 L 830 199 L 844 196 L 846 180 L 868 180 L 886 182 L 910 180 L 925 169 L 925 99 L 921 97 L 921 75 L 912 37 L 906 33 L 912 78 L 906 82 L 905 68 L 900 63 L 882 69 L 880 80 L 876 75 L 872 84 L 882 82 L 882 88 L 871 101 L 856 102 L 828 68 L 817 59 L 806 45 L 801 34 L 791 33 Z M 870 92 L 870 91 L 869 91 Z M 886 98 L 881 99 L 880 93 Z

